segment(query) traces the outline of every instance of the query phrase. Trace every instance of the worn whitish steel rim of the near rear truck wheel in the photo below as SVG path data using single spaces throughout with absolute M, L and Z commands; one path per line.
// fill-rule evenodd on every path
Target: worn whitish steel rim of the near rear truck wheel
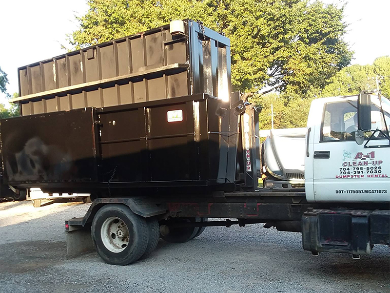
M 129 228 L 118 217 L 109 217 L 104 220 L 100 236 L 104 247 L 114 253 L 124 251 L 130 241 Z

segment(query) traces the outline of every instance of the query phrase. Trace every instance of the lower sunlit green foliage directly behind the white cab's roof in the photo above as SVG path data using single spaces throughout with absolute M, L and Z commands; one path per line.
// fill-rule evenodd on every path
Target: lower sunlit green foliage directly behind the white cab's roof
M 323 89 L 310 89 L 306 95 L 270 93 L 257 95 L 253 102 L 262 110 L 259 114 L 260 129 L 271 128 L 271 104 L 274 128 L 306 127 L 310 104 L 315 98 L 355 95 L 362 90 L 376 88 L 378 76 L 382 95 L 390 98 L 390 57 L 376 58 L 373 64 L 354 64 L 343 68 L 329 80 Z

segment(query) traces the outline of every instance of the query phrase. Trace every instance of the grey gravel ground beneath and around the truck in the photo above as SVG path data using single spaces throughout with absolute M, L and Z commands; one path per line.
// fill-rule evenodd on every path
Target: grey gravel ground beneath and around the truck
M 160 239 L 130 266 L 104 263 L 96 252 L 66 256 L 64 220 L 89 204 L 0 203 L 0 292 L 390 293 L 390 250 L 369 256 L 302 249 L 301 235 L 249 225 L 210 227 L 184 244 Z

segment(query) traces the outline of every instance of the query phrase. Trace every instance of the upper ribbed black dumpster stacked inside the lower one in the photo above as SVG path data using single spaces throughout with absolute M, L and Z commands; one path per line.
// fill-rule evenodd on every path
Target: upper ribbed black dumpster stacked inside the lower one
M 169 25 L 19 68 L 22 115 L 208 93 L 229 99 L 230 41 L 194 21 Z M 48 102 L 50 101 L 50 102 Z

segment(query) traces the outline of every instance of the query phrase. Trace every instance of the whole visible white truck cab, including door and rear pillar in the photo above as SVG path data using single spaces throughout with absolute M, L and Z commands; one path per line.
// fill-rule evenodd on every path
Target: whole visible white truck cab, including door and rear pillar
M 366 109 L 358 106 L 363 98 Z M 390 101 L 377 93 L 314 100 L 306 134 L 307 200 L 390 202 L 389 126 Z

